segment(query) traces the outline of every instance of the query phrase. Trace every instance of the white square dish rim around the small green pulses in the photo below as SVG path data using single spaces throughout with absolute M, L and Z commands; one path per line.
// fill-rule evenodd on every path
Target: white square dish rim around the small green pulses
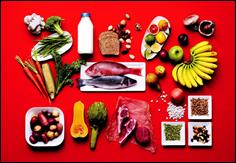
M 180 140 L 166 140 L 164 124 L 182 125 Z M 161 122 L 161 144 L 162 146 L 184 146 L 185 145 L 185 122 Z

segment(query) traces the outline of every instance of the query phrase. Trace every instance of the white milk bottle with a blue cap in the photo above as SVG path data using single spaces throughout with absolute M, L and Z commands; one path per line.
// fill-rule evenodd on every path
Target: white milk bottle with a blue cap
M 90 20 L 90 13 L 81 14 L 78 25 L 78 53 L 93 54 L 93 23 Z

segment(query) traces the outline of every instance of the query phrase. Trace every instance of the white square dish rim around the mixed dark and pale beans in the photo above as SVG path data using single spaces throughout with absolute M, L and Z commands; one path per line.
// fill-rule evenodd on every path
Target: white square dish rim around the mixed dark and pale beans
M 197 142 L 197 140 L 194 140 L 191 142 L 191 139 L 193 137 L 193 126 L 206 126 L 206 129 L 208 130 L 209 141 L 207 143 Z M 188 145 L 189 146 L 212 146 L 212 123 L 211 122 L 188 122 Z

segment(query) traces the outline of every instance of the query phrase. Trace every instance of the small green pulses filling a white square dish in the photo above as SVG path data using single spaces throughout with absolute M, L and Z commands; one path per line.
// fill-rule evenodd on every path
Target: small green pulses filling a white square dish
M 182 125 L 164 124 L 166 140 L 180 140 Z

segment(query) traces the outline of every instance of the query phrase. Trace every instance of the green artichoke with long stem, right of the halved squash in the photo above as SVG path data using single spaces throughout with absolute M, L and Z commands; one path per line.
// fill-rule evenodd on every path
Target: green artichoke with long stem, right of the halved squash
M 90 148 L 96 145 L 98 132 L 106 125 L 107 110 L 103 102 L 94 102 L 88 110 L 88 119 L 92 128 Z

